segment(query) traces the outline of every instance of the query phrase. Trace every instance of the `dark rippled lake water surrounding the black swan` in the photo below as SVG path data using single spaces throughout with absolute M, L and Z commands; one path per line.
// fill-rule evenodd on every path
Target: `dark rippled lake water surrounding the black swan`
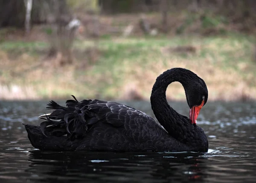
M 122 102 L 152 115 L 148 102 Z M 43 152 L 30 145 L 22 123 L 38 124 L 47 101 L 0 102 L 0 182 L 256 181 L 256 103 L 208 102 L 197 124 L 209 151 L 198 153 Z M 61 102 L 64 104 L 64 102 Z M 188 116 L 186 102 L 170 102 Z

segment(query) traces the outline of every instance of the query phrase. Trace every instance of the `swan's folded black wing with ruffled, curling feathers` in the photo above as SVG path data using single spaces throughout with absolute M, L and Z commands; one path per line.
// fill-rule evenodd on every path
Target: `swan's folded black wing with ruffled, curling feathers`
M 49 130 L 49 134 L 54 134 L 51 132 L 57 131 L 58 128 L 61 134 L 68 134 L 68 137 L 72 139 L 86 135 L 93 128 L 100 131 L 100 124 L 109 124 L 114 128 L 123 128 L 123 133 L 127 135 L 127 138 L 138 140 L 146 137 L 146 128 L 151 128 L 147 127 L 147 124 L 156 123 L 146 113 L 127 105 L 96 99 L 78 102 L 74 96 L 73 98 L 74 100 L 67 100 L 67 107 L 50 101 L 48 108 L 54 111 L 49 115 L 44 115 L 47 119 L 41 123 L 43 134 L 46 129 Z M 58 125 L 58 127 L 48 128 L 49 125 Z M 102 131 L 104 130 L 102 128 Z

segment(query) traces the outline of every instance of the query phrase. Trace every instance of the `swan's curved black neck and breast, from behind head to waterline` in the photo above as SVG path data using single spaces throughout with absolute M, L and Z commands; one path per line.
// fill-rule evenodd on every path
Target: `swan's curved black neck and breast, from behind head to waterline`
M 166 89 L 169 84 L 175 81 L 183 85 L 188 104 L 193 104 L 193 101 L 189 101 L 191 99 L 189 95 L 197 89 L 198 83 L 201 81 L 200 78 L 190 70 L 173 68 L 158 76 L 152 88 L 150 100 L 154 115 L 169 136 L 188 145 L 189 151 L 206 152 L 208 140 L 202 128 L 192 125 L 186 116 L 177 113 L 166 100 Z

